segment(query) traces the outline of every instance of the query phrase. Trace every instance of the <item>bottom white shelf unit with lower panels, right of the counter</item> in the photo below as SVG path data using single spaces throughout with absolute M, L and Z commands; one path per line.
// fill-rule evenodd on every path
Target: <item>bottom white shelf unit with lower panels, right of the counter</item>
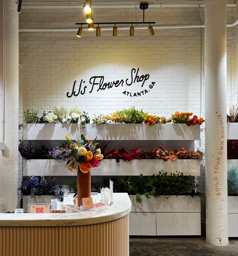
M 134 236 L 198 236 L 201 235 L 200 198 L 164 196 L 137 203 L 130 196 L 130 235 Z M 138 225 L 140 223 L 140 225 Z M 141 226 L 142 225 L 142 226 Z

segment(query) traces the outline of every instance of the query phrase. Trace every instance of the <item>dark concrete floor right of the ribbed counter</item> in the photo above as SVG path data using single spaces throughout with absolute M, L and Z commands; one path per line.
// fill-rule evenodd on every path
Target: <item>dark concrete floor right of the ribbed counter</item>
M 200 238 L 130 238 L 130 256 L 238 256 L 238 239 L 216 246 Z

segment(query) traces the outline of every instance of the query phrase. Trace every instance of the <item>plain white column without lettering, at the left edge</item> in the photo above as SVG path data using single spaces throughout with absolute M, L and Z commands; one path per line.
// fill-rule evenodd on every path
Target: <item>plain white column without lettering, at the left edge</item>
M 18 186 L 18 13 L 12 0 L 0 1 L 0 212 L 17 207 Z

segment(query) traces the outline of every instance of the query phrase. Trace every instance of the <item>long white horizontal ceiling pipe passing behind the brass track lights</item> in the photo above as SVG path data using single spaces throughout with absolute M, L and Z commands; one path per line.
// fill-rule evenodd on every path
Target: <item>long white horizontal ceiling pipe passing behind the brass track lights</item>
M 233 27 L 238 24 L 238 19 L 231 23 L 227 23 L 227 27 Z M 118 26 L 118 30 L 129 29 L 128 26 Z M 174 25 L 153 25 L 153 29 L 188 29 L 188 28 L 204 28 L 204 24 L 174 24 Z M 112 30 L 112 27 L 101 27 L 101 30 Z M 145 26 L 137 26 L 137 29 L 148 29 Z M 19 28 L 19 32 L 65 32 L 65 31 L 77 31 L 78 27 L 75 28 Z

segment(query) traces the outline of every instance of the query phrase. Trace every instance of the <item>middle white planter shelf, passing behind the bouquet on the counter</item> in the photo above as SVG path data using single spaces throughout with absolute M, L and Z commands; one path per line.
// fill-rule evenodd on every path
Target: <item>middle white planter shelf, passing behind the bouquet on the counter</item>
M 98 176 L 139 176 L 141 173 L 144 176 L 157 174 L 164 170 L 168 174 L 183 172 L 184 175 L 199 176 L 200 175 L 200 160 L 198 159 L 178 159 L 176 161 L 142 159 L 124 161 L 119 163 L 115 159 L 103 159 L 97 168 L 92 169 L 92 175 Z M 66 161 L 61 159 L 23 159 L 23 176 L 74 176 L 76 172 L 71 173 L 67 170 Z

